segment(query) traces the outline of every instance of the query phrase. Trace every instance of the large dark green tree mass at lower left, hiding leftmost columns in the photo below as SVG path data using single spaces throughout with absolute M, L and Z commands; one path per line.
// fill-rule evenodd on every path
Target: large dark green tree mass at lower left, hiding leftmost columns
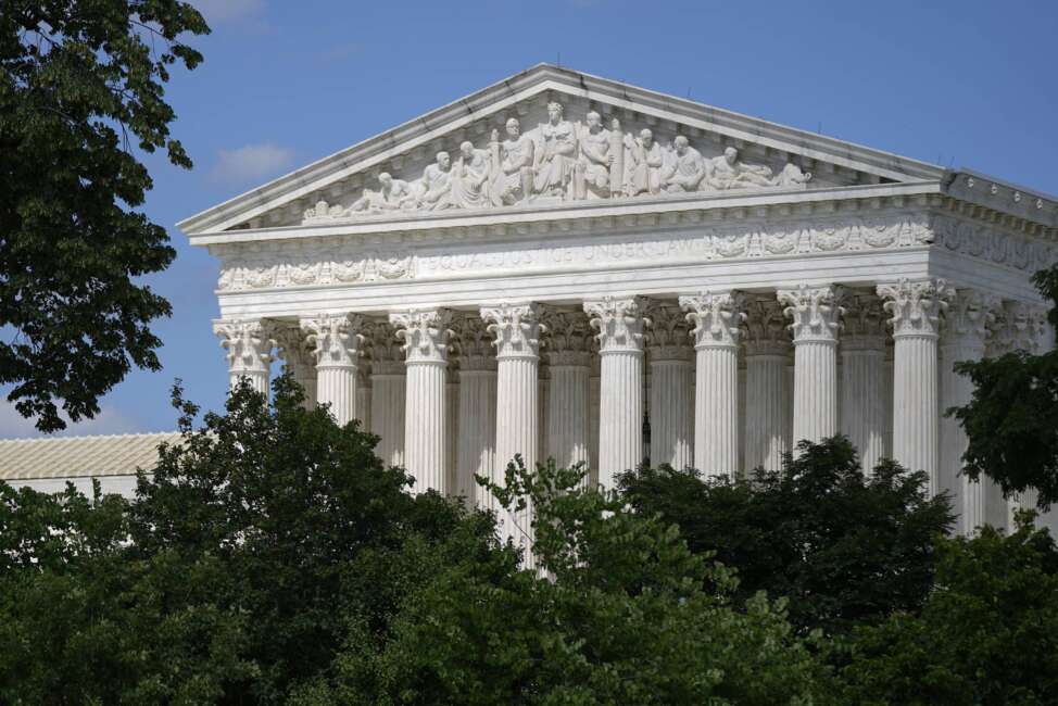
M 177 396 L 182 442 L 130 503 L 3 487 L 0 703 L 284 703 L 350 621 L 378 650 L 439 567 L 500 551 L 302 399 L 243 387 L 193 431 Z

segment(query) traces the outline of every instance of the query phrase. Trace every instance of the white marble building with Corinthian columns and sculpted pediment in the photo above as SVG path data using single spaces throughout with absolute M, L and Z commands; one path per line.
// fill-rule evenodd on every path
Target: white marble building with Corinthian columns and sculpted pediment
M 222 263 L 232 380 L 281 358 L 419 490 L 841 431 L 962 528 L 1018 502 L 959 476 L 942 412 L 955 362 L 1051 343 L 1058 203 L 1022 187 L 539 65 L 179 227 Z

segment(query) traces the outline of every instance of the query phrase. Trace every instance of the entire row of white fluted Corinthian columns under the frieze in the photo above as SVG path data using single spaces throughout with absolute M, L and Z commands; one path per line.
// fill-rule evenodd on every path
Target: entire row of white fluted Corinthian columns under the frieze
M 950 323 L 939 346 L 949 306 Z M 743 465 L 778 468 L 792 441 L 841 431 L 869 470 L 885 454 L 891 425 L 892 456 L 927 471 L 931 492 L 952 492 L 963 525 L 972 528 L 995 519 L 986 516 L 983 500 L 993 490 L 957 480 L 966 439 L 941 412 L 969 400 L 970 382 L 952 373 L 953 364 L 997 350 L 986 351 L 995 311 L 1004 310 L 981 293 L 956 292 L 941 280 L 902 280 L 874 292 L 808 285 L 779 289 L 773 297 L 705 290 L 680 297 L 677 306 L 605 297 L 584 302 L 582 313 L 504 303 L 482 307 L 480 317 L 441 308 L 398 312 L 388 322 L 318 316 L 300 322 L 301 348 L 295 332 L 288 329 L 277 342 L 257 322 L 219 322 L 217 332 L 232 379 L 247 377 L 266 391 L 270 350 L 278 345 L 295 377 L 305 376 L 306 389 L 315 387 L 316 401 L 329 404 L 339 423 L 369 416 L 370 430 L 381 437 L 379 455 L 406 467 L 417 490 L 463 494 L 491 506 L 491 497 L 469 480 L 471 471 L 500 478 L 516 454 L 530 468 L 541 455 L 561 466 L 594 462 L 599 482 L 613 487 L 617 474 L 644 457 L 648 351 L 655 465 L 694 466 L 706 475 L 733 474 Z M 1040 318 L 1032 317 L 1023 318 Z M 1038 348 L 1029 340 L 1042 340 L 1038 325 L 1021 326 L 1028 328 L 1032 336 L 1023 333 L 1018 344 Z M 541 339 L 550 364 L 546 384 L 540 379 Z M 357 374 L 365 343 L 371 354 L 369 411 Z M 302 360 L 305 351 L 308 361 Z M 450 351 L 458 361 L 457 386 L 446 382 Z M 745 354 L 741 395 L 740 351 Z M 741 433 L 740 403 L 745 405 Z M 886 406 L 895 411 L 891 419 Z M 511 521 L 528 531 L 528 515 Z

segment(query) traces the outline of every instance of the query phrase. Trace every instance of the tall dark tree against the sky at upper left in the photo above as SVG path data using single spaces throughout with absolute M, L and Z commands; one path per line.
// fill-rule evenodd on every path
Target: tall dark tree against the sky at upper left
M 169 304 L 135 278 L 174 257 L 143 214 L 134 147 L 165 149 L 163 85 L 207 33 L 178 0 L 4 0 L 0 8 L 0 383 L 37 427 L 99 412 L 131 365 L 160 367 L 149 324 Z

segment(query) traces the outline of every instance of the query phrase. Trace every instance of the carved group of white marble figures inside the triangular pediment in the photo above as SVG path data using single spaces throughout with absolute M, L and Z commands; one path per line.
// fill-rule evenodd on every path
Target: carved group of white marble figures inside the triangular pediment
M 811 174 L 789 162 L 778 173 L 765 164 L 744 162 L 739 150 L 726 148 L 704 156 L 688 137 L 677 134 L 658 142 L 650 128 L 625 131 L 614 118 L 607 128 L 589 111 L 583 122 L 564 116 L 563 105 L 547 104 L 547 118 L 522 131 L 517 117 L 492 130 L 486 148 L 459 144 L 454 159 L 438 152 L 415 179 L 388 172 L 376 188 L 365 188 L 349 206 L 320 200 L 305 220 L 347 219 L 358 215 L 475 210 L 506 205 L 559 203 L 739 189 L 806 188 Z

